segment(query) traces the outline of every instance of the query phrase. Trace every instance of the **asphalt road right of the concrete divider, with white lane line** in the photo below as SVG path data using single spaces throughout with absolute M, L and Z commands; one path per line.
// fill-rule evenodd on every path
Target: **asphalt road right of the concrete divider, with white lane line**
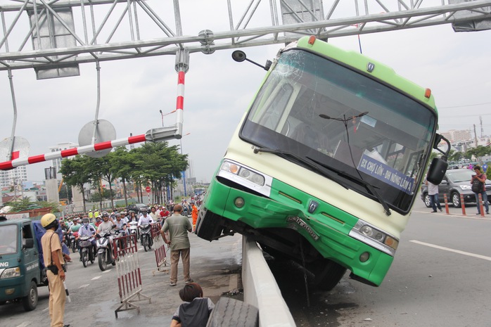
M 378 288 L 348 271 L 330 292 L 307 293 L 294 264 L 271 264 L 297 326 L 491 326 L 491 217 L 475 205 L 449 212 L 416 203 Z

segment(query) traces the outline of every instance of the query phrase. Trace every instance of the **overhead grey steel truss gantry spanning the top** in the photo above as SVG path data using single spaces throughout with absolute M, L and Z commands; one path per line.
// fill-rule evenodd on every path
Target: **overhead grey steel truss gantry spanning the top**
M 491 17 L 487 0 L 227 0 L 220 9 L 228 19 L 215 18 L 222 2 L 203 17 L 223 26 L 189 35 L 183 33 L 182 0 L 0 0 L 0 70 L 175 55 L 179 49 L 213 53 L 304 34 L 329 39 Z

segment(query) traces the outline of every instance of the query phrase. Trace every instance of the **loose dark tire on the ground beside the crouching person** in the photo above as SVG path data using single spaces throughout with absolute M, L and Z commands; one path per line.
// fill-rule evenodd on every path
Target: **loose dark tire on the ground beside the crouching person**
M 259 310 L 245 302 L 220 297 L 206 327 L 257 327 Z

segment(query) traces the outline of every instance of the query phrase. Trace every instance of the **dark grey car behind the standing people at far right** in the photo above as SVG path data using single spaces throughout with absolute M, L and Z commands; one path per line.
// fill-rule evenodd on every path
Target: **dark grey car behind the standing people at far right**
M 442 183 L 438 185 L 438 200 L 444 203 L 444 196 L 447 194 L 449 204 L 454 207 L 461 207 L 460 195 L 464 196 L 464 203 L 476 203 L 476 195 L 471 190 L 472 175 L 476 174 L 472 169 L 447 169 Z M 487 201 L 491 200 L 491 181 L 486 179 Z M 428 196 L 428 186 L 421 186 L 421 200 L 426 207 L 431 207 L 430 197 Z

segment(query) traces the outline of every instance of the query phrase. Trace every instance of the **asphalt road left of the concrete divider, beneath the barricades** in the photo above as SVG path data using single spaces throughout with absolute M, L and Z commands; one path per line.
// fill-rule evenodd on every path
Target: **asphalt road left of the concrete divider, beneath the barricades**
M 204 295 L 217 302 L 223 293 L 234 294 L 241 283 L 241 236 L 222 238 L 212 243 L 204 241 L 194 234 L 191 240 L 191 278 L 203 287 Z M 168 262 L 170 258 L 168 257 Z M 138 260 L 141 267 L 141 295 L 151 297 L 151 303 L 145 297 L 135 302 L 140 306 L 136 310 L 118 313 L 120 306 L 117 286 L 117 269 L 108 266 L 101 271 L 97 262 L 87 268 L 78 261 L 78 253 L 72 254 L 73 262 L 67 272 L 67 286 L 71 303 L 65 306 L 65 323 L 70 326 L 169 326 L 172 314 L 181 304 L 179 289 L 184 286 L 182 266 L 179 263 L 179 281 L 177 286 L 169 285 L 169 264 L 158 271 L 153 250 L 144 252 L 140 246 Z M 22 304 L 7 303 L 0 306 L 1 327 L 49 326 L 49 293 L 47 287 L 38 288 L 39 303 L 32 312 L 24 312 Z M 234 295 L 231 295 L 234 296 Z

